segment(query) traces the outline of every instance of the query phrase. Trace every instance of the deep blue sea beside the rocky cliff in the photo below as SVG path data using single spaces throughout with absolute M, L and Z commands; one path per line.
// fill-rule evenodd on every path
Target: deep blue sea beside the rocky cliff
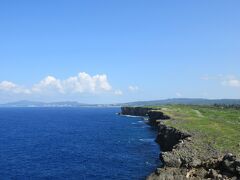
M 138 180 L 156 132 L 119 108 L 0 108 L 0 179 Z

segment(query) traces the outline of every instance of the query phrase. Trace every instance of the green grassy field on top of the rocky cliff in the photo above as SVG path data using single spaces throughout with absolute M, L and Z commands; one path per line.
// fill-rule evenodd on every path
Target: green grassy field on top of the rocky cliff
M 161 111 L 172 120 L 165 123 L 195 136 L 219 152 L 240 156 L 240 110 L 214 106 L 167 105 Z

